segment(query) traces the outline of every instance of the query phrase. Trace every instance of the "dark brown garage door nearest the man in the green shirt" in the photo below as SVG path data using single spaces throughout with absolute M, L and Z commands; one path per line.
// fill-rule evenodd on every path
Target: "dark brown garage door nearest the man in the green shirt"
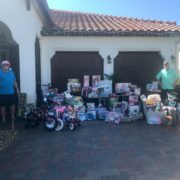
M 132 82 L 145 91 L 146 84 L 156 80 L 162 68 L 158 52 L 120 52 L 114 61 L 114 73 L 120 82 Z

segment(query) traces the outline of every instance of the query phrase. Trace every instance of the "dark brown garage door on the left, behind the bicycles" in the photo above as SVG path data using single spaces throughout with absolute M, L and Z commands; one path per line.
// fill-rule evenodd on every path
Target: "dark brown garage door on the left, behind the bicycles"
M 67 90 L 67 81 L 84 75 L 103 77 L 103 59 L 98 52 L 56 52 L 51 59 L 51 82 L 60 92 Z M 90 78 L 91 79 L 91 78 Z

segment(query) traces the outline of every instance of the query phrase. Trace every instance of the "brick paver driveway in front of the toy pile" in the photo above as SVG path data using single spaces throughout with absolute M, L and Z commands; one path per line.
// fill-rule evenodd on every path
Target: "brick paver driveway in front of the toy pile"
M 91 121 L 46 132 L 18 124 L 18 138 L 0 152 L 1 180 L 180 179 L 178 126 Z

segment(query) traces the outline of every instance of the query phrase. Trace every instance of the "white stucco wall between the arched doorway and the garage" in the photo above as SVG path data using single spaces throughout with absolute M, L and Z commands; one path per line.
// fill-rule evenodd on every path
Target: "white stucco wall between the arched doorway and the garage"
M 35 38 L 42 22 L 34 6 L 27 11 L 25 0 L 0 0 L 0 21 L 11 30 L 19 44 L 21 92 L 28 94 L 28 102 L 35 102 Z

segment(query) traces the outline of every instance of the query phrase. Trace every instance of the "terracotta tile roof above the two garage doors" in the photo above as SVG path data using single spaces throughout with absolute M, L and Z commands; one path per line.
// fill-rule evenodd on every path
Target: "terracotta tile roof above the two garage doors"
M 128 33 L 176 33 L 180 36 L 180 26 L 175 22 L 144 20 L 91 13 L 50 10 L 54 26 L 44 27 L 42 35 L 114 35 Z

